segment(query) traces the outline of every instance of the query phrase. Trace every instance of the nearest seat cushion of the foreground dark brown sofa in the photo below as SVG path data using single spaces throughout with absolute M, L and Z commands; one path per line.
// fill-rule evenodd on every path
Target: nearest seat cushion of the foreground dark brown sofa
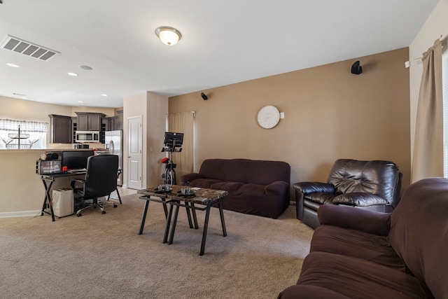
M 304 259 L 297 284 L 320 286 L 349 298 L 431 298 L 409 274 L 360 258 L 318 251 Z

